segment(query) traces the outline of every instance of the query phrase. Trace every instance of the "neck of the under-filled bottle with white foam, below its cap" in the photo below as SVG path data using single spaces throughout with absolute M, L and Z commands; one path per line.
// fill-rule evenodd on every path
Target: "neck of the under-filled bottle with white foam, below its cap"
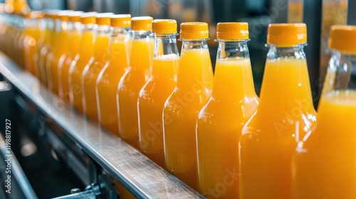
M 179 65 L 177 34 L 155 34 L 155 50 L 152 65 L 152 77 L 176 80 Z

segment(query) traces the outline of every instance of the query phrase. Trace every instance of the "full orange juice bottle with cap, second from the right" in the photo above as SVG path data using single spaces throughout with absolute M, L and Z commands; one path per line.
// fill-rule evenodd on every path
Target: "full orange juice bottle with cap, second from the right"
M 290 198 L 291 161 L 316 120 L 303 47 L 305 23 L 268 26 L 266 68 L 256 109 L 242 129 L 241 198 Z

